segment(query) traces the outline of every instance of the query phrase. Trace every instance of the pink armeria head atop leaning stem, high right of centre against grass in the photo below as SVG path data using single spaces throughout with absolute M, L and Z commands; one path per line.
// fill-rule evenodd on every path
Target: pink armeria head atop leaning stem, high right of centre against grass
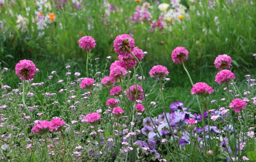
M 174 63 L 181 63 L 184 61 L 184 59 L 187 60 L 188 58 L 188 51 L 185 49 L 185 47 L 176 47 L 171 53 L 171 59 Z

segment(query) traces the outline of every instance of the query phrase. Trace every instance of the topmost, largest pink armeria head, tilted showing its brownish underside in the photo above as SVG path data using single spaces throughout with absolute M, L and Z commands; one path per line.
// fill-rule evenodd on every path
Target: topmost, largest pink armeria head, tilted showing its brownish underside
M 118 55 L 128 55 L 134 49 L 134 39 L 128 34 L 118 35 L 114 40 L 114 49 Z

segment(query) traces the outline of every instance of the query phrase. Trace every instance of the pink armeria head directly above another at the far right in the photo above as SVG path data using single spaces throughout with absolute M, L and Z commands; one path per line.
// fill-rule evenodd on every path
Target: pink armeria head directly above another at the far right
M 214 61 L 214 65 L 217 69 L 219 70 L 223 70 L 225 69 L 230 69 L 231 65 L 231 57 L 228 55 L 219 55 L 218 57 L 216 57 L 215 61 Z

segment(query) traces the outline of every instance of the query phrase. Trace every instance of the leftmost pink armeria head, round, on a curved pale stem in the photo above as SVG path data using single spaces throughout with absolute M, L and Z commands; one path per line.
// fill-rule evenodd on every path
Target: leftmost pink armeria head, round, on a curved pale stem
M 35 64 L 30 60 L 21 60 L 15 66 L 15 74 L 20 76 L 19 79 L 23 80 L 25 76 L 25 80 L 32 79 L 37 72 L 37 68 Z

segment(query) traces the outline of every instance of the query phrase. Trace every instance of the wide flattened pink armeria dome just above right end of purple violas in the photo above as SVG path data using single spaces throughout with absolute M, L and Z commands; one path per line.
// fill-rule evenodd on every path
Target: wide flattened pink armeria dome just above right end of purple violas
M 208 86 L 208 84 L 199 82 L 194 84 L 194 86 L 191 89 L 191 94 L 196 94 L 198 96 L 209 96 L 212 92 L 214 92 L 213 88 L 211 86 Z

